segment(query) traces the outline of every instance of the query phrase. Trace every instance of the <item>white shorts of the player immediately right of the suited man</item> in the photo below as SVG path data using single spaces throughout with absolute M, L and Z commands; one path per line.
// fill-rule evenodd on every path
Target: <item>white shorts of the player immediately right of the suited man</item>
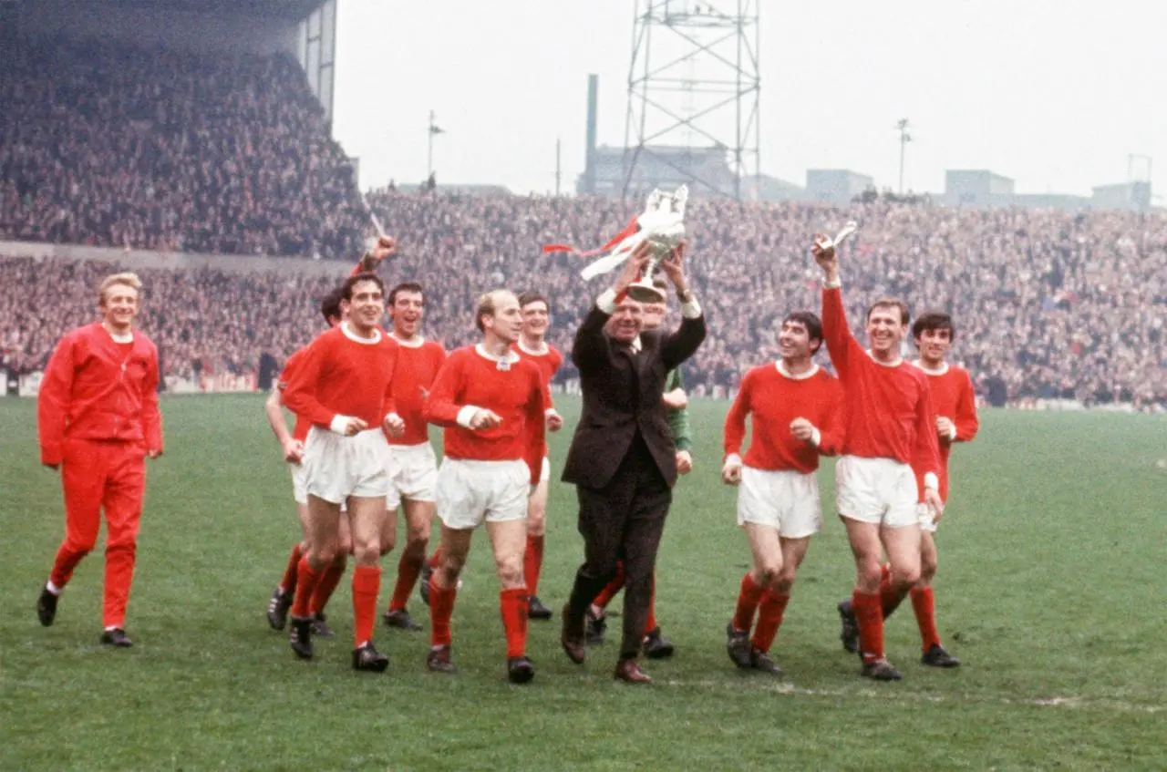
M 741 468 L 738 525 L 775 528 L 785 539 L 804 539 L 823 527 L 815 475 L 794 470 Z

